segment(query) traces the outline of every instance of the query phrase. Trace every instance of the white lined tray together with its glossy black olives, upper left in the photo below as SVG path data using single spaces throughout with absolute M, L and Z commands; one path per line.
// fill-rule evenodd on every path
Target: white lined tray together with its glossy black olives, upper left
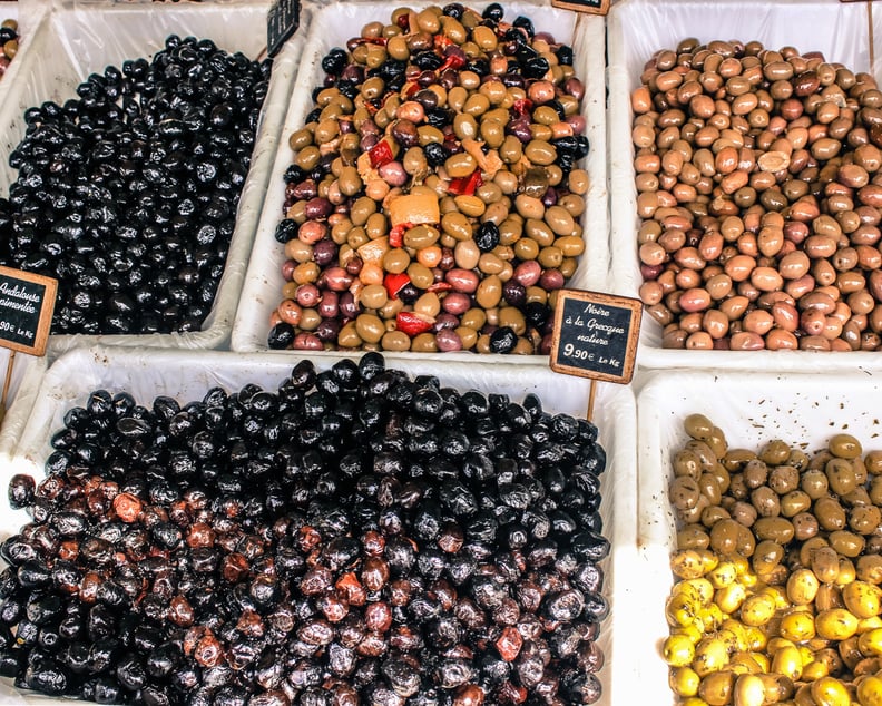
M 300 60 L 295 38 L 272 79 L 255 62 L 265 16 L 82 6 L 33 36 L 0 115 L 3 259 L 61 281 L 51 350 L 227 339 Z

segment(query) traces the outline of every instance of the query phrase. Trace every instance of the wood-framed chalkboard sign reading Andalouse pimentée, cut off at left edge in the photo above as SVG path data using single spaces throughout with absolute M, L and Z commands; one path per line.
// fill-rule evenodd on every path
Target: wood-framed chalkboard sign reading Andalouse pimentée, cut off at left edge
M 51 277 L 0 267 L 0 346 L 42 355 L 57 290 Z

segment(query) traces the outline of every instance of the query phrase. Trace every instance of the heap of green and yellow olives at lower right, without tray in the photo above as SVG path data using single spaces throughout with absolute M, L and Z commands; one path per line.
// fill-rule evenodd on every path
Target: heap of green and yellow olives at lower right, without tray
M 878 706 L 882 452 L 847 433 L 754 452 L 702 414 L 684 425 L 664 644 L 678 703 Z

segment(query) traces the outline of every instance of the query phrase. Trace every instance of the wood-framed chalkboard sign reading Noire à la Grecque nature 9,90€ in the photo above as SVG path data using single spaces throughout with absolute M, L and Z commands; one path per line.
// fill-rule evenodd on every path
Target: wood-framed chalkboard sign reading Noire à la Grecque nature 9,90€
M 551 370 L 607 382 L 630 382 L 641 313 L 639 300 L 560 290 L 555 305 Z

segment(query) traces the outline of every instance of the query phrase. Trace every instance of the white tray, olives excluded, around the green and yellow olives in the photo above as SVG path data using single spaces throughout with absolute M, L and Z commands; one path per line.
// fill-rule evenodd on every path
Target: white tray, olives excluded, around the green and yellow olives
M 654 371 L 637 395 L 641 638 L 633 641 L 637 669 L 633 698 L 654 694 L 654 704 L 673 704 L 661 643 L 668 636 L 665 600 L 674 582 L 668 558 L 676 547 L 676 520 L 668 500 L 670 459 L 688 440 L 684 419 L 705 414 L 726 435 L 729 448 L 758 450 L 774 439 L 810 455 L 835 433 L 856 437 L 864 453 L 882 448 L 879 399 L 882 375 L 710 373 Z M 621 695 L 620 693 L 618 694 Z

